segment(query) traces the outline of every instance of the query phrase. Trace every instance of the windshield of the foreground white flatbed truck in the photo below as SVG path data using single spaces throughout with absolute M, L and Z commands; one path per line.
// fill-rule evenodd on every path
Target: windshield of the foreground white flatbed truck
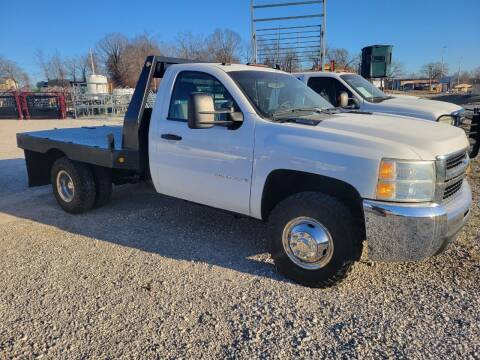
M 277 114 L 301 111 L 308 115 L 333 105 L 297 78 L 270 71 L 231 71 L 228 73 L 248 97 L 260 115 L 274 118 Z

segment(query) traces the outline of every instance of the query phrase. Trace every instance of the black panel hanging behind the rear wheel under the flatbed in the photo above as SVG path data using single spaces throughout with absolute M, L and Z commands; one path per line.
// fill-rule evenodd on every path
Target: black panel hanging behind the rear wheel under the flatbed
M 50 170 L 55 160 L 64 157 L 65 153 L 58 149 L 50 149 L 45 154 L 25 150 L 25 161 L 28 171 L 28 186 L 50 184 Z

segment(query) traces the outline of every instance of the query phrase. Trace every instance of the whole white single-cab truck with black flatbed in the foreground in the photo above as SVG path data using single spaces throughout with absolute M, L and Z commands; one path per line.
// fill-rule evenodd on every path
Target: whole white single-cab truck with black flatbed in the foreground
M 373 260 L 442 252 L 472 201 L 462 130 L 341 111 L 289 74 L 248 65 L 148 57 L 123 127 L 17 142 L 29 185 L 52 184 L 67 212 L 105 204 L 112 183 L 151 179 L 158 193 L 268 221 L 276 267 L 312 287 L 343 279 L 365 242 Z

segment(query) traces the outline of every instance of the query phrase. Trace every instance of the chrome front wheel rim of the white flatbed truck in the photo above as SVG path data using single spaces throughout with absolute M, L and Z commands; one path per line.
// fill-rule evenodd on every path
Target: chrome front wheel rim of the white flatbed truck
M 309 217 L 290 221 L 283 230 L 282 243 L 289 259 L 303 269 L 320 269 L 332 259 L 332 236 L 325 226 Z

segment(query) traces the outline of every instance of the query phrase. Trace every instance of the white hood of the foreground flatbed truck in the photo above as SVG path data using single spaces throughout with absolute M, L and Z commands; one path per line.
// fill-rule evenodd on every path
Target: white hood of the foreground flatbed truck
M 392 155 L 408 156 L 413 152 L 422 160 L 434 160 L 469 145 L 459 128 L 403 116 L 341 113 L 322 121 L 317 128 L 342 133 L 352 141 L 368 142 L 371 147 L 388 147 Z

